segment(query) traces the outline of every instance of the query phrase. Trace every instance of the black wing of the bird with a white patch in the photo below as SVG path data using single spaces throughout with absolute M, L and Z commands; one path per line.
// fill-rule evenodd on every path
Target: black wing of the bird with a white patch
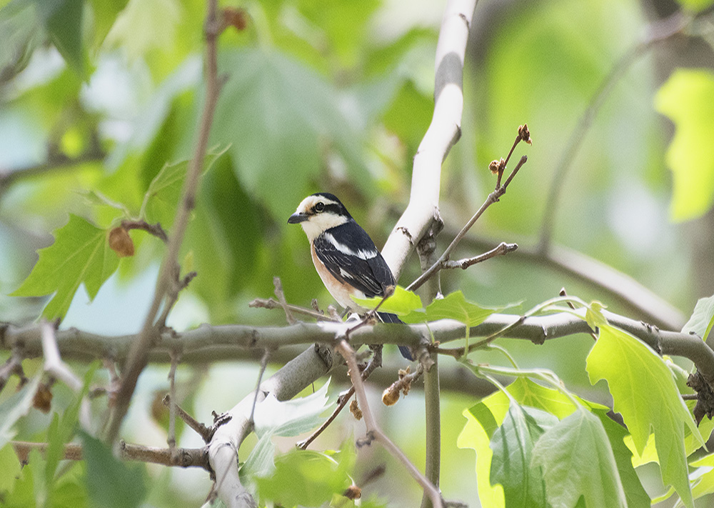
M 366 297 L 381 297 L 394 276 L 374 242 L 355 221 L 328 229 L 314 241 L 315 254 L 336 279 Z

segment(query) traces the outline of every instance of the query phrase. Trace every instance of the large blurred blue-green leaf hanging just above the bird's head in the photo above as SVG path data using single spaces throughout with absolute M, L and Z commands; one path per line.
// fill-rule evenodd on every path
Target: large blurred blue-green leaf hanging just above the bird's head
M 266 49 L 222 54 L 219 66 L 241 70 L 221 90 L 211 139 L 231 143 L 234 171 L 253 199 L 285 220 L 316 190 L 310 182 L 320 181 L 325 154 L 340 156 L 340 170 L 368 189 L 364 126 L 353 119 L 361 111 L 345 111 L 347 101 L 323 76 Z

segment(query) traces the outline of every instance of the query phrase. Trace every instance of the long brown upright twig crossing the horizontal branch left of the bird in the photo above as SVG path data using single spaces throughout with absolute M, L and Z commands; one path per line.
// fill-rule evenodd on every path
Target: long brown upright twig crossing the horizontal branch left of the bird
M 111 415 L 109 430 L 106 434 L 106 440 L 110 443 L 114 443 L 119 435 L 119 428 L 129 409 L 129 402 L 131 402 L 131 397 L 134 394 L 136 381 L 146 366 L 149 348 L 156 337 L 159 337 L 160 330 L 154 326 L 154 319 L 156 318 L 156 314 L 159 313 L 161 302 L 164 302 L 164 296 L 166 295 L 167 289 L 169 289 L 171 278 L 178 265 L 178 249 L 181 248 L 181 244 L 183 243 L 183 235 L 186 232 L 188 219 L 191 216 L 191 210 L 196 201 L 198 181 L 201 176 L 201 169 L 203 169 L 203 157 L 206 154 L 208 135 L 210 134 L 211 124 L 213 123 L 213 112 L 216 109 L 216 102 L 218 101 L 218 93 L 220 91 L 216 56 L 216 41 L 219 34 L 217 9 L 218 0 L 208 0 L 208 12 L 204 26 L 206 36 L 206 99 L 198 129 L 196 149 L 193 152 L 193 159 L 191 159 L 191 164 L 188 167 L 186 181 L 183 183 L 181 200 L 179 201 L 176 217 L 173 222 L 174 231 L 172 231 L 171 238 L 169 239 L 164 263 L 161 265 L 159 279 L 156 282 L 154 301 L 151 302 L 149 313 L 146 315 L 146 320 L 144 321 L 144 327 L 141 329 L 141 334 L 137 337 L 136 342 L 132 344 L 129 358 L 126 361 L 121 389 L 119 389 L 119 394 L 117 394 L 114 413 Z

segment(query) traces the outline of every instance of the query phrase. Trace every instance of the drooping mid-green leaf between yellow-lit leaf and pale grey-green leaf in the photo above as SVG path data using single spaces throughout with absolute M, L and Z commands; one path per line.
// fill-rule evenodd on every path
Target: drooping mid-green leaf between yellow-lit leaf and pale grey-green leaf
M 508 507 L 545 507 L 545 483 L 540 467 L 532 467 L 533 444 L 558 423 L 552 414 L 511 403 L 491 439 L 491 484 L 501 484 Z

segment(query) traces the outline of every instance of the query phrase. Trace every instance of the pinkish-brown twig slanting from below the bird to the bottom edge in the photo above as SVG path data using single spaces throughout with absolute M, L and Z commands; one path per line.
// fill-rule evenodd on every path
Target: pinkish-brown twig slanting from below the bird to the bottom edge
M 399 449 L 396 444 L 391 442 L 391 439 L 389 439 L 386 434 L 384 434 L 378 427 L 377 422 L 374 419 L 371 409 L 369 407 L 369 403 L 367 401 L 367 394 L 365 392 L 364 384 L 362 382 L 362 376 L 357 366 L 354 349 L 352 349 L 346 339 L 339 339 L 335 349 L 339 354 L 342 355 L 342 357 L 345 359 L 345 362 L 347 362 L 348 373 L 350 374 L 353 386 L 355 387 L 357 400 L 359 402 L 360 409 L 362 410 L 364 422 L 367 427 L 367 439 L 370 441 L 371 439 L 376 439 L 378 442 L 380 442 L 382 446 L 385 447 L 387 452 L 389 452 L 393 457 L 398 459 L 398 461 L 400 461 L 404 465 L 409 474 L 411 474 L 411 476 L 416 480 L 416 482 L 421 485 L 424 491 L 428 492 L 434 508 L 441 508 L 441 494 L 439 494 L 438 489 L 436 489 L 436 487 L 434 487 L 434 485 L 429 482 L 429 480 L 426 479 L 423 474 L 421 474 L 421 472 L 416 468 L 414 464 L 411 463 L 411 461 L 406 457 L 406 455 L 401 451 L 401 449 Z

